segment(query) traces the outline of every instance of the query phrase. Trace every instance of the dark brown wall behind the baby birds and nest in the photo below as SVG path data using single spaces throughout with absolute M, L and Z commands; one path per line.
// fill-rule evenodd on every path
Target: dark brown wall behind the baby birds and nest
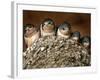
M 81 36 L 90 36 L 91 15 L 87 13 L 23 11 L 23 24 L 34 24 L 39 27 L 45 18 L 51 18 L 55 25 L 68 21 L 72 25 L 72 31 L 80 31 Z

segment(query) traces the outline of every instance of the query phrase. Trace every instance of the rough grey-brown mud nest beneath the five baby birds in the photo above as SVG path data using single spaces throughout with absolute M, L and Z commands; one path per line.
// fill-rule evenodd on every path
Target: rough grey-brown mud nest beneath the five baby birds
M 91 55 L 81 43 L 55 36 L 39 38 L 23 53 L 23 69 L 90 66 Z

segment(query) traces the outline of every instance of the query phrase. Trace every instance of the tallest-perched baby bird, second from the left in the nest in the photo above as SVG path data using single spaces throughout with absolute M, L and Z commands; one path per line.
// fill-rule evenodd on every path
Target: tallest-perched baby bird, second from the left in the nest
M 50 18 L 45 19 L 41 26 L 41 36 L 54 36 L 55 35 L 55 24 L 54 21 Z

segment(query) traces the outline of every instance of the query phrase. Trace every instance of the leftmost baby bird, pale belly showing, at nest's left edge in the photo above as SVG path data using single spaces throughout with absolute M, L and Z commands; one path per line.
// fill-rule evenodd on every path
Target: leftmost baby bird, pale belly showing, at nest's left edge
M 27 45 L 27 47 L 31 47 L 32 43 L 39 39 L 40 32 L 39 29 L 34 27 L 32 24 L 26 24 L 25 28 L 25 34 L 24 34 L 24 40 Z

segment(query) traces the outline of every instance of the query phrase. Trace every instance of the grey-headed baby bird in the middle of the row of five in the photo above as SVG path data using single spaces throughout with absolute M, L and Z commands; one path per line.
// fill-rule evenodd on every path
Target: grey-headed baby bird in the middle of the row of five
M 58 27 L 57 36 L 68 39 L 71 36 L 71 25 L 68 22 L 61 24 Z

